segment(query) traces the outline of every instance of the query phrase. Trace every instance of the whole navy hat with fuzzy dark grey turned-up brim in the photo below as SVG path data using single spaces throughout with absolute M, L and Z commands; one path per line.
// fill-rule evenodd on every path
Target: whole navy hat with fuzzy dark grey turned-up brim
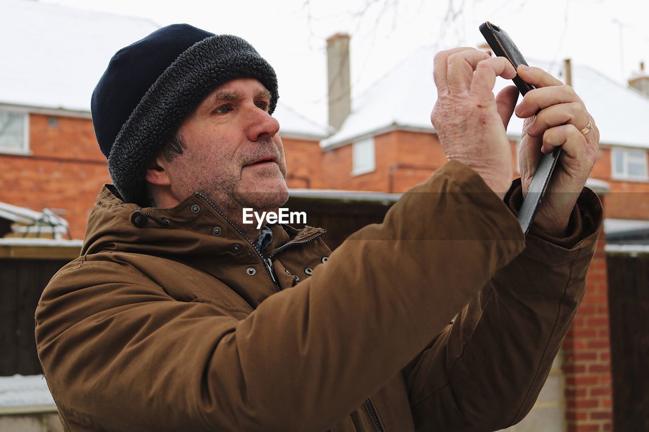
M 147 166 L 212 90 L 256 78 L 279 97 L 275 71 L 245 40 L 173 24 L 117 51 L 90 102 L 110 178 L 125 202 L 144 205 Z

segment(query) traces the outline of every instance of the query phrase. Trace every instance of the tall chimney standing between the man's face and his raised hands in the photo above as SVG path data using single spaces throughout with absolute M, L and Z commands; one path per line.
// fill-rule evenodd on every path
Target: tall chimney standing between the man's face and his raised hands
M 336 33 L 326 40 L 329 125 L 336 130 L 352 111 L 349 73 L 349 34 Z

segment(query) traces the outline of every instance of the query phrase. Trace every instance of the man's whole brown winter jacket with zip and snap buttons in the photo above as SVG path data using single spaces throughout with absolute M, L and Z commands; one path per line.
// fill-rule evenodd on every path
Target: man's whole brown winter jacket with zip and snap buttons
M 324 230 L 274 226 L 275 283 L 201 195 L 138 228 L 104 187 L 36 309 L 47 384 L 71 430 L 507 427 L 583 296 L 602 210 L 588 189 L 579 204 L 572 248 L 524 237 L 449 162 L 336 252 Z

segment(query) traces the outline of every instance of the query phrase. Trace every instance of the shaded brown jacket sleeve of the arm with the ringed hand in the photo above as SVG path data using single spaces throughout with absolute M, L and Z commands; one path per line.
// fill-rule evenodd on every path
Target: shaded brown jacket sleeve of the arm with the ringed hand
M 600 201 L 584 188 L 568 237 L 530 230 L 522 254 L 404 368 L 417 430 L 494 431 L 524 418 L 582 300 L 601 228 Z

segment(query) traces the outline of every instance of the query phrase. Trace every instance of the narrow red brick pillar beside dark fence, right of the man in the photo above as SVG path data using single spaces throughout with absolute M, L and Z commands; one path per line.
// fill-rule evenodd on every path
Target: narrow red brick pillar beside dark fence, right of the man
M 568 432 L 613 430 L 611 350 L 604 235 L 588 272 L 586 293 L 563 341 Z

